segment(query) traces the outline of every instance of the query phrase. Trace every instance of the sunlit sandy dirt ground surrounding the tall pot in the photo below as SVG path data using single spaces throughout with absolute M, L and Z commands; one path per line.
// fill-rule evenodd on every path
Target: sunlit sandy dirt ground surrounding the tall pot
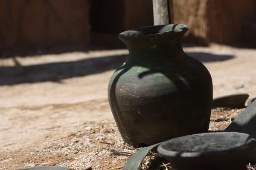
M 255 49 L 215 44 L 183 49 L 208 68 L 214 97 L 256 96 Z M 0 59 L 0 169 L 122 168 L 137 149 L 122 142 L 107 88 L 127 54 L 122 49 Z M 242 110 L 212 110 L 209 130 L 224 130 Z

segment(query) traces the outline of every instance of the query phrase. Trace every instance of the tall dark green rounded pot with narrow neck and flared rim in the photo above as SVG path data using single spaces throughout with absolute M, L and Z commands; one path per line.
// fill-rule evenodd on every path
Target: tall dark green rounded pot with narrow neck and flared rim
M 140 147 L 207 132 L 212 78 L 182 49 L 188 29 L 160 25 L 119 34 L 129 56 L 110 79 L 108 100 L 125 142 Z

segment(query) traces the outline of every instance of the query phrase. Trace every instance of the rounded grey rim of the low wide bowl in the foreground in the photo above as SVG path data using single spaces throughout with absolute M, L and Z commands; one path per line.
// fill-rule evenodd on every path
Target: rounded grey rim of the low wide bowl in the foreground
M 177 158 L 196 158 L 196 157 L 204 157 L 204 156 L 219 156 L 219 155 L 224 155 L 227 153 L 233 153 L 233 152 L 237 152 L 237 151 L 241 151 L 241 150 L 246 150 L 249 149 L 249 147 L 253 144 L 256 144 L 256 139 L 254 139 L 253 137 L 251 137 L 249 134 L 247 133 L 239 133 L 239 132 L 208 132 L 208 133 L 198 133 L 198 134 L 194 134 L 193 136 L 198 136 L 198 135 L 202 135 L 202 134 L 231 134 L 231 133 L 236 133 L 240 136 L 247 136 L 247 139 L 249 139 L 245 144 L 241 144 L 238 147 L 234 147 L 231 149 L 224 149 L 224 150 L 219 150 L 219 151 L 212 151 L 212 152 L 181 152 L 181 151 L 173 151 L 173 150 L 166 150 L 163 145 L 166 144 L 166 142 L 168 143 L 169 141 L 171 141 L 172 139 L 170 139 L 169 141 L 163 142 L 162 144 L 160 144 L 157 147 L 157 152 L 160 155 L 163 156 L 167 156 L 167 157 L 177 157 Z M 187 135 L 187 137 L 192 136 L 192 135 Z M 185 136 L 181 136 L 181 137 L 185 137 Z M 180 137 L 177 137 L 180 138 Z M 174 139 L 177 139 L 174 138 Z

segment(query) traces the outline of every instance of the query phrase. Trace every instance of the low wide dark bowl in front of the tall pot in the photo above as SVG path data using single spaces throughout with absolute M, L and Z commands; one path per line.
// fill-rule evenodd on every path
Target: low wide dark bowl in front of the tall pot
M 157 147 L 173 170 L 246 170 L 256 139 L 246 133 L 215 132 L 182 136 Z

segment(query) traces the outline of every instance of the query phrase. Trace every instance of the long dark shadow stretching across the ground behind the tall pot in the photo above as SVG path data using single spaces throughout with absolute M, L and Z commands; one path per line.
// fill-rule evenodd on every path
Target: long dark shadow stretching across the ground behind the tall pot
M 186 52 L 201 62 L 216 62 L 234 58 L 228 55 Z M 13 57 L 15 66 L 0 67 L 0 85 L 15 85 L 34 82 L 58 82 L 62 79 L 83 77 L 116 70 L 127 60 L 127 55 L 105 56 L 72 62 L 53 62 L 23 66 Z

